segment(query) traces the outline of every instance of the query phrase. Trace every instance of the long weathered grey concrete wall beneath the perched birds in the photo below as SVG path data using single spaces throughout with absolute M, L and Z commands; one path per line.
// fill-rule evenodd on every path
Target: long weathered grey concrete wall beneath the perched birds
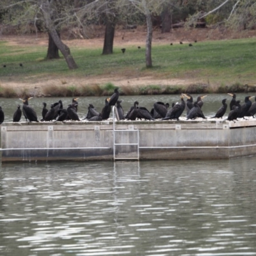
M 5 123 L 2 161 L 228 159 L 256 154 L 256 120 Z M 121 145 L 120 145 L 121 144 Z M 125 145 L 124 145 L 125 144 Z M 138 150 L 139 145 L 139 150 Z

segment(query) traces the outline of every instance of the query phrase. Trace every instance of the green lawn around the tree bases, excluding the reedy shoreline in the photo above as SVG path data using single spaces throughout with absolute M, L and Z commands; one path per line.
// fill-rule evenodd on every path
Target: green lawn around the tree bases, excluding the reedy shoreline
M 153 68 L 145 68 L 145 50 L 135 45 L 125 54 L 115 47 L 111 55 L 100 49 L 71 48 L 79 68 L 68 70 L 64 58 L 45 61 L 46 47 L 20 47 L 0 42 L 2 81 L 33 81 L 37 77 L 154 76 L 158 79 L 193 79 L 223 86 L 256 81 L 256 38 L 205 41 L 193 44 L 152 45 Z M 20 67 L 22 63 L 24 67 Z M 4 68 L 3 65 L 6 65 Z M 111 82 L 111 81 L 109 81 Z M 70 90 L 73 90 L 71 88 Z M 152 89 L 152 88 L 151 88 Z

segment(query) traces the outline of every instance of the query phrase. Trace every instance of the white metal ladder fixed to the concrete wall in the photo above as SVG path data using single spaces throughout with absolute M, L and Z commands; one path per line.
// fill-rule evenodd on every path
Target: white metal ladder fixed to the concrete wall
M 116 115 L 115 115 L 116 114 Z M 117 118 L 117 120 L 119 120 L 119 116 L 118 113 L 116 111 L 116 107 L 113 106 L 113 160 L 140 160 L 140 145 L 139 145 L 139 141 L 140 141 L 140 133 L 139 130 L 134 130 L 134 125 L 129 125 L 129 129 L 128 130 L 116 130 L 115 129 L 115 116 Z M 116 142 L 116 134 L 118 132 L 134 132 L 137 133 L 136 139 L 137 141 L 134 143 L 117 143 Z M 116 157 L 116 146 L 125 146 L 125 145 L 135 145 L 137 146 L 137 152 L 136 152 L 136 157 Z

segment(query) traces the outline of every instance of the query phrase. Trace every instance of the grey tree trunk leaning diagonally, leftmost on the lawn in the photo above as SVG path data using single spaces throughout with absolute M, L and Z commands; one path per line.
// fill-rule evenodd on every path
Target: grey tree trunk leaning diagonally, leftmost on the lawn
M 65 45 L 61 39 L 60 36 L 58 35 L 58 32 L 56 31 L 56 28 L 54 27 L 54 22 L 51 19 L 51 6 L 48 0 L 42 0 L 42 4 L 40 6 L 42 8 L 42 12 L 44 13 L 44 20 L 45 20 L 45 25 L 46 28 L 48 29 L 48 32 L 50 33 L 52 40 L 54 41 L 54 44 L 58 47 L 58 49 L 61 51 L 63 54 L 68 68 L 69 69 L 74 69 L 77 68 L 76 62 L 74 61 L 70 49 L 68 48 L 67 45 Z

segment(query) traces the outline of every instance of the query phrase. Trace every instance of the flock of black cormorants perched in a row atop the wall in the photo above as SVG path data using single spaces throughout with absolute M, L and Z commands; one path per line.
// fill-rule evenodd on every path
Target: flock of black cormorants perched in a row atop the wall
M 256 113 L 256 99 L 255 102 L 252 103 L 250 99 L 255 96 L 246 96 L 244 99 L 244 104 L 240 104 L 240 100 L 236 100 L 235 93 L 228 93 L 228 95 L 232 96 L 232 100 L 230 101 L 230 112 L 228 113 L 228 117 L 226 120 L 234 121 L 237 118 L 244 118 L 244 116 L 253 116 Z M 206 95 L 202 95 L 197 97 L 196 101 L 193 102 L 193 97 L 189 93 L 182 93 L 180 95 L 180 102 L 176 104 L 172 104 L 172 108 L 170 104 L 163 102 L 155 102 L 153 108 L 148 111 L 147 108 L 139 107 L 139 102 L 135 101 L 134 105 L 131 106 L 126 115 L 124 115 L 124 110 L 122 108 L 122 100 L 118 100 L 119 92 L 118 88 L 115 88 L 115 92 L 111 97 L 105 99 L 105 105 L 102 108 L 102 111 L 99 113 L 94 108 L 93 104 L 89 104 L 88 113 L 83 119 L 80 119 L 77 115 L 77 106 L 78 98 L 72 99 L 72 104 L 69 104 L 67 109 L 63 108 L 62 101 L 51 104 L 51 109 L 47 109 L 47 104 L 43 102 L 42 109 L 42 119 L 38 121 L 38 117 L 36 115 L 35 109 L 29 106 L 28 101 L 32 99 L 24 98 L 20 99 L 23 101 L 22 109 L 20 106 L 17 106 L 17 110 L 13 114 L 13 122 L 19 122 L 22 116 L 26 118 L 26 122 L 44 122 L 44 121 L 52 121 L 52 122 L 63 122 L 66 120 L 88 120 L 88 121 L 102 121 L 107 120 L 111 113 L 111 106 L 116 106 L 115 115 L 117 120 L 136 120 L 136 119 L 145 119 L 145 120 L 179 120 L 183 111 L 186 109 L 186 119 L 195 119 L 195 118 L 204 118 L 204 113 L 202 112 L 202 106 L 204 104 L 204 97 Z M 186 98 L 186 102 L 184 100 Z M 227 99 L 222 100 L 222 106 L 216 112 L 216 115 L 211 118 L 222 118 L 227 111 Z M 0 124 L 4 122 L 4 112 L 0 106 Z

